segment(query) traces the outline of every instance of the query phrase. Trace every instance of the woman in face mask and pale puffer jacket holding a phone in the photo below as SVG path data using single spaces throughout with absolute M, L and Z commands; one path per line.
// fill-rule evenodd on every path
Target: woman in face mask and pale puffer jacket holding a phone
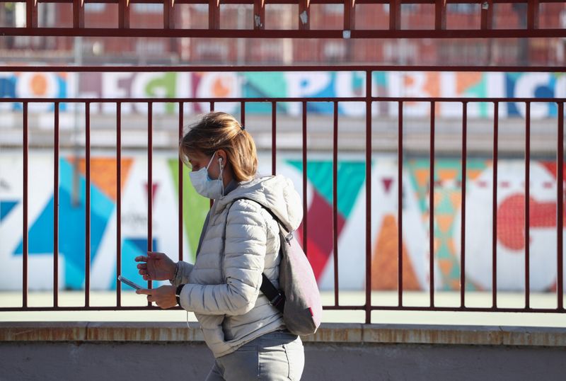
M 262 273 L 279 284 L 279 224 L 270 212 L 287 227 L 299 227 L 298 193 L 283 176 L 257 176 L 253 138 L 232 115 L 204 115 L 179 149 L 195 190 L 214 205 L 194 265 L 161 253 L 139 256 L 145 280 L 172 285 L 137 292 L 161 308 L 195 312 L 216 358 L 207 380 L 300 380 L 301 339 L 260 292 Z

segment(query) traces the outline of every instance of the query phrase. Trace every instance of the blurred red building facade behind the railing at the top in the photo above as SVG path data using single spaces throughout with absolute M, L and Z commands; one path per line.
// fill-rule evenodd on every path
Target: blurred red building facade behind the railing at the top
M 267 4 L 266 29 L 297 29 L 297 5 Z M 206 29 L 208 6 L 177 4 L 178 28 Z M 388 28 L 389 8 L 358 4 L 357 29 Z M 340 29 L 342 4 L 312 4 L 311 29 Z M 86 28 L 114 28 L 117 4 L 85 4 Z M 72 4 L 40 3 L 38 24 L 70 27 Z M 132 4 L 131 28 L 162 28 L 162 4 Z M 526 27 L 526 4 L 495 4 L 495 29 Z M 564 3 L 543 3 L 540 28 L 566 28 Z M 0 6 L 0 25 L 25 26 L 25 3 Z M 403 4 L 403 29 L 434 27 L 434 4 Z M 221 6 L 220 28 L 252 29 L 253 6 Z M 480 28 L 480 4 L 448 4 L 446 28 Z M 67 37 L 4 37 L 0 57 L 6 61 L 73 62 L 76 39 Z M 83 63 L 108 64 L 460 64 L 460 65 L 561 65 L 566 39 L 227 39 L 227 38 L 81 38 Z

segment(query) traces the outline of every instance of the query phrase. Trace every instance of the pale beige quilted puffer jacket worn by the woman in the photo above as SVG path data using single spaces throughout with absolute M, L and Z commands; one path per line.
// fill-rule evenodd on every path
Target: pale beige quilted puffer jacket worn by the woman
M 180 262 L 173 280 L 186 283 L 180 305 L 195 312 L 215 357 L 284 327 L 282 315 L 260 292 L 262 273 L 278 285 L 279 226 L 258 203 L 233 202 L 237 198 L 257 200 L 293 230 L 303 218 L 299 194 L 283 176 L 240 183 L 215 200 L 195 265 Z

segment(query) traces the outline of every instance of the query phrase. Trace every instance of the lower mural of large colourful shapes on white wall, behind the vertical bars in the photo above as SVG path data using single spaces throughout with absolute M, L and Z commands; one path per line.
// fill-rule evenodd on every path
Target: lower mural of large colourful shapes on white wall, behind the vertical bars
M 270 173 L 270 158 L 260 157 Z M 30 290 L 53 284 L 53 158 L 30 152 L 28 266 Z M 91 160 L 91 289 L 115 288 L 117 266 L 116 159 Z M 306 251 L 320 288 L 332 290 L 333 163 L 307 163 Z M 429 288 L 429 162 L 403 163 L 403 288 Z M 147 160 L 124 157 L 122 167 L 122 274 L 141 282 L 133 259 L 147 242 Z M 362 290 L 366 273 L 366 181 L 363 158 L 337 166 L 337 263 L 341 290 Z M 533 291 L 556 288 L 556 164 L 531 161 L 529 239 L 524 236 L 524 162 L 500 160 L 497 184 L 497 283 L 499 290 L 524 290 L 525 248 L 530 248 Z M 23 254 L 21 155 L 0 155 L 0 290 L 21 288 Z M 183 258 L 193 261 L 209 201 L 197 195 L 183 169 Z M 84 161 L 59 158 L 59 287 L 81 289 L 85 281 L 86 178 Z M 302 196 L 300 156 L 280 157 L 277 172 L 291 178 Z M 78 177 L 74 176 L 78 174 Z M 79 181 L 74 183 L 74 178 Z M 438 159 L 434 171 L 434 288 L 459 290 L 461 271 L 461 163 Z M 492 163 L 468 159 L 466 188 L 466 286 L 490 290 L 492 279 Z M 178 258 L 178 161 L 156 152 L 153 161 L 151 246 Z M 371 163 L 371 288 L 396 290 L 398 284 L 398 178 L 395 157 L 376 155 Z M 560 216 L 562 220 L 565 216 Z M 296 232 L 303 241 L 302 226 Z M 564 234 L 562 232 L 562 237 Z

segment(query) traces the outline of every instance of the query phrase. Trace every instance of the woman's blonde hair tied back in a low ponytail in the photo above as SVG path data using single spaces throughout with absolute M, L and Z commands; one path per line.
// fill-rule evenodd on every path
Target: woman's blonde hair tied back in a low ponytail
M 190 152 L 212 156 L 219 149 L 226 152 L 236 181 L 251 180 L 258 171 L 258 154 L 253 137 L 228 113 L 205 114 L 192 125 L 179 142 L 179 155 L 187 164 Z

